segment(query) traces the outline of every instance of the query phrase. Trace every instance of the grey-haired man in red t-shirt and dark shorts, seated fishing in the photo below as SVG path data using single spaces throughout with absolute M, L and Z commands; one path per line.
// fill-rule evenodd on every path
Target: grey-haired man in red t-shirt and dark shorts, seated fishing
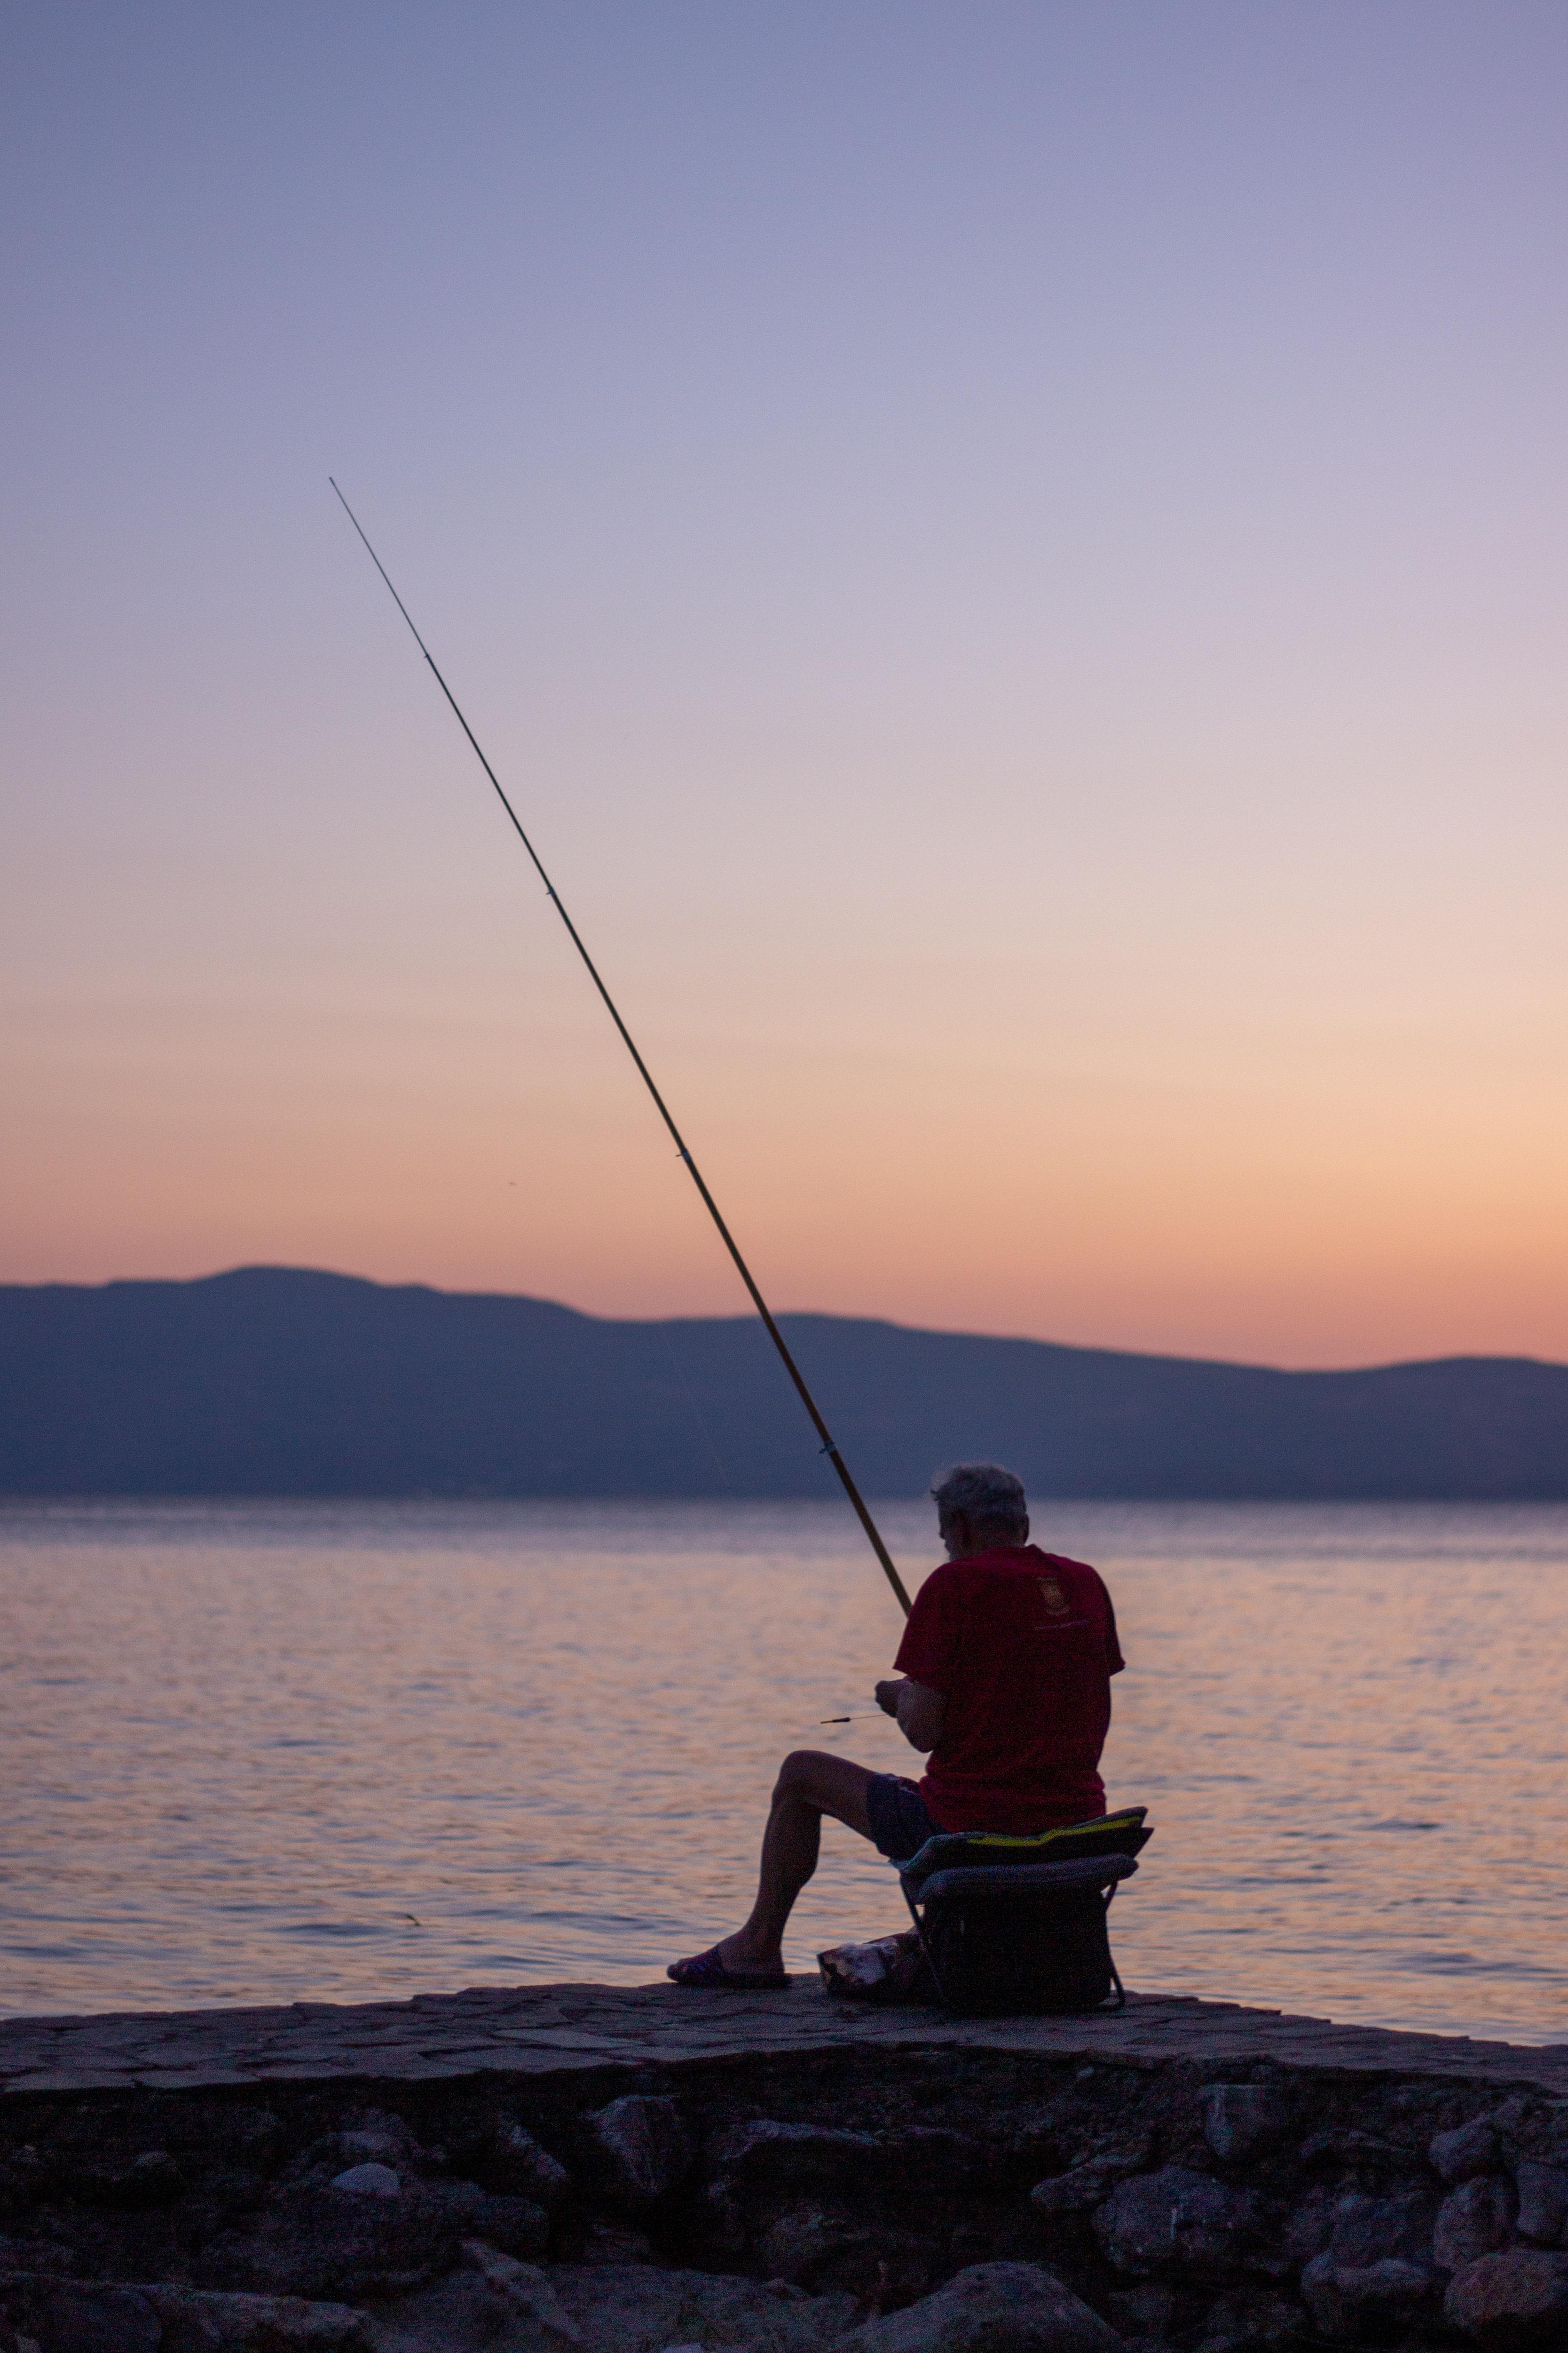
M 823 1814 L 905 1861 L 938 1831 L 1030 1835 L 1105 1812 L 1100 1751 L 1117 1619 L 1098 1572 L 1030 1544 L 1020 1480 L 959 1464 L 931 1489 L 947 1565 L 914 1598 L 877 1706 L 929 1758 L 922 1781 L 823 1748 L 778 1769 L 745 1927 L 670 1965 L 677 1986 L 788 1986 L 783 1929 L 816 1871 Z

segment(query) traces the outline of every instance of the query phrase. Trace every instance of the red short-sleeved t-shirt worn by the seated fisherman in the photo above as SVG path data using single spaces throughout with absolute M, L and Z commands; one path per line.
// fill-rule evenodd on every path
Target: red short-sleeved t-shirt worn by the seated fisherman
M 1105 1812 L 1117 1619 L 1084 1560 L 976 1553 L 914 1595 L 898 1673 L 947 1701 L 919 1793 L 943 1831 L 1053 1831 Z

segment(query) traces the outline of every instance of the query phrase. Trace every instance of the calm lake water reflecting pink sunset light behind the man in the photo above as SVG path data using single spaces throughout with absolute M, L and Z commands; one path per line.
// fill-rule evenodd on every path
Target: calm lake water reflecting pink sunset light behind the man
M 1568 1511 L 1041 1520 L 1128 1654 L 1128 1984 L 1568 2038 Z M 12 1506 L 0 1628 L 5 2012 L 644 1981 L 745 1911 L 785 1748 L 910 1767 L 818 1729 L 898 1638 L 832 1501 Z M 830 1826 L 792 1965 L 900 1922 Z

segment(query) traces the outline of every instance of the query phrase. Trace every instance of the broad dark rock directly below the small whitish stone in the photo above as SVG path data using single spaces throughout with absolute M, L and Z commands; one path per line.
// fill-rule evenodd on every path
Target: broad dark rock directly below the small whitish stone
M 223 2231 L 195 2264 L 197 2287 L 317 2297 L 355 2304 L 364 2294 L 423 2287 L 449 2271 L 458 2231 L 440 2198 L 284 2188 L 249 2231 Z

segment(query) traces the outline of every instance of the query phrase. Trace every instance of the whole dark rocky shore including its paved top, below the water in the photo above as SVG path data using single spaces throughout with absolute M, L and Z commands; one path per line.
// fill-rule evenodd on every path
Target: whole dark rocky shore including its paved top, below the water
M 1568 2047 L 480 1988 L 0 2026 L 0 2353 L 1568 2348 Z

